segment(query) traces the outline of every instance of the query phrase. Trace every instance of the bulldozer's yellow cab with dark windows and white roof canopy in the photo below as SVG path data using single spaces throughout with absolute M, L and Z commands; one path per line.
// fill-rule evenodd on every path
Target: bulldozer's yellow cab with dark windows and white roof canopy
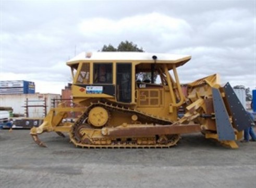
M 67 62 L 73 79 L 73 99 L 106 98 L 139 106 L 154 106 L 160 105 L 161 101 L 157 98 L 167 87 L 173 103 L 176 103 L 182 98 L 176 68 L 190 58 L 141 52 L 80 53 Z M 174 78 L 169 75 L 169 70 L 174 71 Z M 178 98 L 174 88 L 179 93 Z

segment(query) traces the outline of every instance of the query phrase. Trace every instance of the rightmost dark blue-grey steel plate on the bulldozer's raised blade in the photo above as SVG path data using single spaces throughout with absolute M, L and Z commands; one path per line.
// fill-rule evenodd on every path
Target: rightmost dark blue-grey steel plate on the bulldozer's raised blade
M 224 87 L 225 92 L 225 101 L 228 104 L 228 108 L 230 113 L 233 117 L 234 127 L 238 131 L 242 131 L 248 128 L 251 125 L 251 119 L 247 114 L 245 108 L 239 101 L 236 93 L 234 92 L 233 88 L 227 83 Z

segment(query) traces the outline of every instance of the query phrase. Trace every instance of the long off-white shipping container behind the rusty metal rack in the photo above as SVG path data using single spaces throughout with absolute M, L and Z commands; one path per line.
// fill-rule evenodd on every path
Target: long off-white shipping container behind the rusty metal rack
M 0 95 L 0 106 L 11 106 L 13 114 L 28 114 L 28 117 L 44 117 L 52 108 L 53 99 L 60 99 L 60 95 L 51 93 L 8 94 Z M 28 100 L 28 104 L 27 104 Z M 26 113 L 26 106 L 29 106 Z

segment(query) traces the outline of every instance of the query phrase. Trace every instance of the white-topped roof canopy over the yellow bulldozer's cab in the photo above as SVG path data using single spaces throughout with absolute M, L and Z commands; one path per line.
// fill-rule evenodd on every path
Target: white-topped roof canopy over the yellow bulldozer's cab
M 155 59 L 155 60 L 154 60 Z M 191 59 L 188 55 L 174 55 L 168 53 L 148 53 L 148 52 L 82 52 L 74 58 L 67 61 L 69 66 L 77 66 L 79 62 L 118 62 L 118 63 L 166 63 L 168 69 L 172 65 L 176 67 L 184 65 Z

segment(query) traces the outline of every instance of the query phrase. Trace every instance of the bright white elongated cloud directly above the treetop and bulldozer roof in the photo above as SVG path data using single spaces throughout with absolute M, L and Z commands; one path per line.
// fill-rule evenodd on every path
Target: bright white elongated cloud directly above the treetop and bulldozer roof
M 185 20 L 152 12 L 119 20 L 85 19 L 79 23 L 78 29 L 89 41 L 97 38 L 103 44 L 114 41 L 116 44 L 113 45 L 117 45 L 125 36 L 129 41 L 150 43 L 152 47 L 157 45 L 164 48 L 169 45 L 169 41 L 177 42 L 179 38 L 186 36 L 190 25 Z

